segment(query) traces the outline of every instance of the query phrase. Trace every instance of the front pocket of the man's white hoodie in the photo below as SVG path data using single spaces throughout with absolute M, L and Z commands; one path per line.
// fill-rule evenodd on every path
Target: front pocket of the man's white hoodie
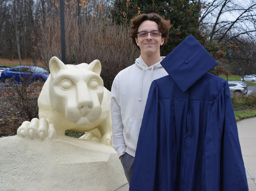
M 142 122 L 142 117 L 130 117 L 125 131 L 126 145 L 128 142 L 136 144 L 139 137 L 139 130 Z

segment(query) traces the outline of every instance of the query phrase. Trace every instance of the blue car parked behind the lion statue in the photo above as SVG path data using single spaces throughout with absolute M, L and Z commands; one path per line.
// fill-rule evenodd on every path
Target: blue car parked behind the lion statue
M 37 81 L 44 83 L 48 76 L 48 71 L 39 66 L 14 66 L 2 71 L 1 81 L 6 85 L 10 82 L 31 83 Z

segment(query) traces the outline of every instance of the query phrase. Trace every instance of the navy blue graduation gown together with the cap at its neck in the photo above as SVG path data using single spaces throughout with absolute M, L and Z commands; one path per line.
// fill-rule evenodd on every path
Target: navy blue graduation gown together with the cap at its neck
M 248 190 L 227 81 L 191 35 L 161 62 L 151 84 L 130 191 Z

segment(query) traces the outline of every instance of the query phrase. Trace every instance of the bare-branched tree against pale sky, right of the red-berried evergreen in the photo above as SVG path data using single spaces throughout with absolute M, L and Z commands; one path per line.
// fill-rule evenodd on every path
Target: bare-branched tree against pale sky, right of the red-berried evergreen
M 256 1 L 208 0 L 203 4 L 199 22 L 204 35 L 237 47 L 218 60 L 221 65 L 235 75 L 256 73 Z

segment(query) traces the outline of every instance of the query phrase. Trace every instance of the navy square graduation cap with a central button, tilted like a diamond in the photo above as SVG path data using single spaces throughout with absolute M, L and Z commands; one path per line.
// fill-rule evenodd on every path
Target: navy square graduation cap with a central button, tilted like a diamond
M 163 68 L 183 92 L 217 64 L 192 35 L 161 61 Z

